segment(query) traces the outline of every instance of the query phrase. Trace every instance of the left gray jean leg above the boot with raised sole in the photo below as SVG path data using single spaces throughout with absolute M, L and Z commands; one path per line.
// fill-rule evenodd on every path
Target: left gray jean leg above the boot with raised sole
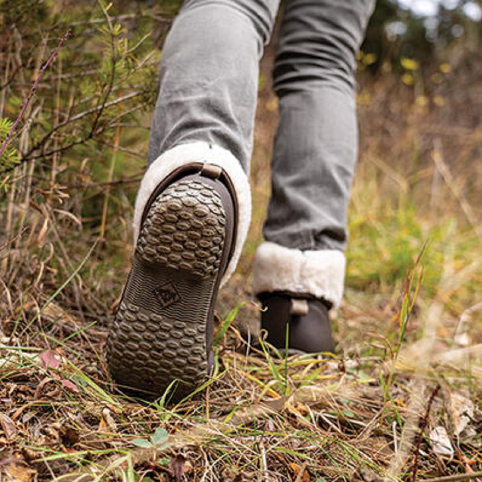
M 186 0 L 162 52 L 148 162 L 195 141 L 249 170 L 259 59 L 279 0 Z

